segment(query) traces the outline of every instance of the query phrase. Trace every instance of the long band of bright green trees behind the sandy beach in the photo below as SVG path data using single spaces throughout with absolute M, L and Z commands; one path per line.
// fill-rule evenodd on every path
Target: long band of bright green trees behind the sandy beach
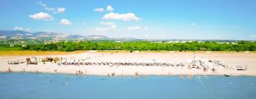
M 256 42 L 235 42 L 220 44 L 217 42 L 186 42 L 186 43 L 156 43 L 156 42 L 113 42 L 113 41 L 81 41 L 56 42 L 45 45 L 27 45 L 21 50 L 65 51 L 75 50 L 169 50 L 169 51 L 256 51 Z

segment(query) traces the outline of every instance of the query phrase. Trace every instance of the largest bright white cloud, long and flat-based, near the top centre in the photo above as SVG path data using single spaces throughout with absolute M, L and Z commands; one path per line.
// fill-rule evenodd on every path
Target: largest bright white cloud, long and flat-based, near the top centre
M 122 21 L 139 21 L 141 18 L 135 16 L 134 13 L 107 13 L 102 19 L 113 19 Z

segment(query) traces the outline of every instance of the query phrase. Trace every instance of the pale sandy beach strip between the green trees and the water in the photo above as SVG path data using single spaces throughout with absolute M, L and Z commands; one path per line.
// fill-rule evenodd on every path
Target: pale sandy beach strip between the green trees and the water
M 63 61 L 46 62 L 39 59 L 45 57 L 62 57 L 65 62 L 110 62 L 110 63 L 169 63 L 175 66 L 123 66 L 123 65 L 63 65 Z M 36 58 L 38 64 L 26 64 L 26 58 Z M 205 66 L 200 69 L 192 68 L 193 60 L 205 60 Z M 209 60 L 218 61 L 225 66 L 213 64 Z M 24 62 L 22 64 L 8 64 L 10 61 Z M 177 64 L 184 64 L 178 66 Z M 57 55 L 23 55 L 1 56 L 0 71 L 38 72 L 54 74 L 81 74 L 87 75 L 215 75 L 224 76 L 256 76 L 255 52 L 80 52 L 78 54 Z M 244 71 L 238 71 L 242 66 Z M 203 68 L 207 67 L 207 71 Z M 215 71 L 213 71 L 215 69 Z

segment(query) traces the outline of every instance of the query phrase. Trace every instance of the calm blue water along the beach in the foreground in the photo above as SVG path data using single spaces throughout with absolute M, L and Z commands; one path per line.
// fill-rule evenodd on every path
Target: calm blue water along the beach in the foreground
M 0 99 L 255 99 L 256 77 L 0 74 Z

